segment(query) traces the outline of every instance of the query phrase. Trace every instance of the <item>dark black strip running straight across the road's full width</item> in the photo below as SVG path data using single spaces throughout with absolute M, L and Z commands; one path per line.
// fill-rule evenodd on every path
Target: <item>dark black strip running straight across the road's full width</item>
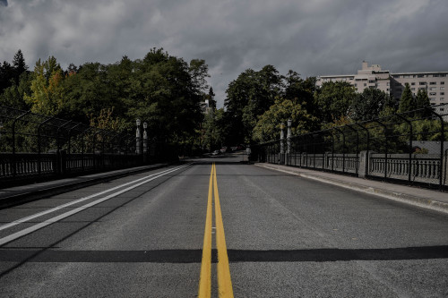
M 329 262 L 350 260 L 428 260 L 448 258 L 448 245 L 388 249 L 315 249 L 291 251 L 228 250 L 230 262 Z M 0 261 L 21 262 L 200 263 L 202 250 L 45 251 L 3 249 Z M 217 251 L 212 251 L 217 262 Z M 0 274 L 1 276 L 1 274 Z

